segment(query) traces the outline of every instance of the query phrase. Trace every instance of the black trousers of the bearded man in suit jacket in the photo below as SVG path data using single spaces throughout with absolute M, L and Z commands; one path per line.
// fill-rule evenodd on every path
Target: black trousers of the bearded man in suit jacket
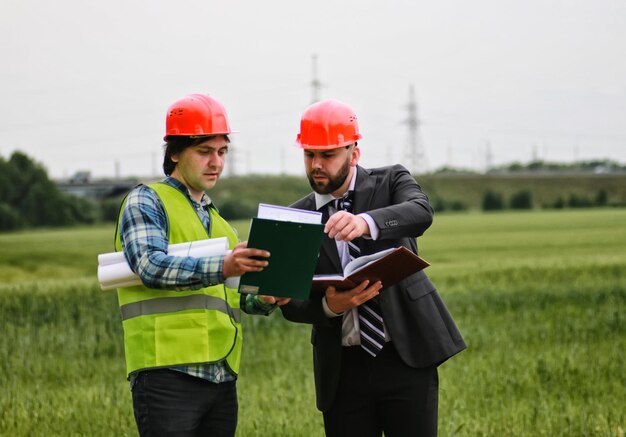
M 436 436 L 438 392 L 437 367 L 407 366 L 393 343 L 376 358 L 344 347 L 337 394 L 324 413 L 326 436 Z

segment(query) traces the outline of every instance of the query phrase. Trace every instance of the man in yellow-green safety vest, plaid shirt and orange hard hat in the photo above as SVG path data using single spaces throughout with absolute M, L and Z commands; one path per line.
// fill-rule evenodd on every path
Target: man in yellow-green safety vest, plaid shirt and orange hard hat
M 269 314 L 288 299 L 239 294 L 228 277 L 268 265 L 239 243 L 205 193 L 222 173 L 231 133 L 226 110 L 204 94 L 166 115 L 162 182 L 126 197 L 116 249 L 142 281 L 118 289 L 133 408 L 142 436 L 233 436 L 241 311 Z M 168 255 L 168 245 L 226 237 L 228 255 Z

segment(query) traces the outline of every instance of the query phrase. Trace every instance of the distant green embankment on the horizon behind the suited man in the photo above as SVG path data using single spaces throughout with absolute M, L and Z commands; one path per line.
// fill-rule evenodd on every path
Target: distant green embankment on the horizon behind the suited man
M 516 194 L 530 193 L 533 208 L 626 206 L 626 174 L 498 173 L 416 176 L 436 211 L 479 210 L 487 192 L 499 194 L 504 208 Z M 311 191 L 302 176 L 225 177 L 209 192 L 222 214 L 247 218 L 259 202 L 288 205 Z

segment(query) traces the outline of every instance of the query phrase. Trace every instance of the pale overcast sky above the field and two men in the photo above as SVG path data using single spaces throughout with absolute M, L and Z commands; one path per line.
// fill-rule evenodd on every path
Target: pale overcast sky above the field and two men
M 622 0 L 2 0 L 0 56 L 0 157 L 57 179 L 162 175 L 167 107 L 196 92 L 238 131 L 225 175 L 303 174 L 314 79 L 366 167 L 626 162 Z

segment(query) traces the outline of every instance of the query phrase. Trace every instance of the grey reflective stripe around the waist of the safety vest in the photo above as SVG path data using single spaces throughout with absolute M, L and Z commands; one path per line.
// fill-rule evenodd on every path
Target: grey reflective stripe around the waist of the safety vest
M 204 294 L 183 297 L 158 297 L 127 303 L 120 307 L 120 312 L 122 321 L 124 321 L 138 316 L 195 309 L 220 311 L 230 315 L 237 323 L 241 323 L 241 310 L 239 308 L 231 308 L 223 299 Z

